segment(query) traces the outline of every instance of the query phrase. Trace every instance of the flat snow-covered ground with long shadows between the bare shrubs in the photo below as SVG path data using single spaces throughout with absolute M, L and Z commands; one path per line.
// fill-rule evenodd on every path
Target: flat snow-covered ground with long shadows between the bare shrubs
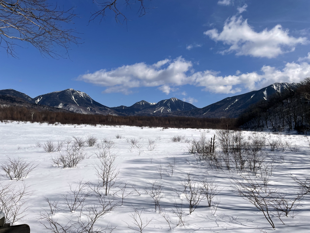
M 74 168 L 58 168 L 53 166 L 50 157 L 55 156 L 59 152 L 46 153 L 42 147 L 36 147 L 35 142 L 45 143 L 47 140 L 68 140 L 73 139 L 73 136 L 86 138 L 88 135 L 94 135 L 98 139 L 113 140 L 115 148 L 111 149 L 113 153 L 117 153 L 117 164 L 120 174 L 117 184 L 127 181 L 126 192 L 131 192 L 131 185 L 135 185 L 139 191 L 133 192 L 124 199 L 123 205 L 120 205 L 113 212 L 104 215 L 98 221 L 96 226 L 105 227 L 107 225 L 116 227 L 113 232 L 135 232 L 128 228 L 134 226 L 132 224 L 131 213 L 133 207 L 138 207 L 142 212 L 142 220 L 146 218 L 152 221 L 143 232 L 310 232 L 310 195 L 306 196 L 301 203 L 301 206 L 294 212 L 294 218 L 283 218 L 283 225 L 279 219 L 272 218 L 275 222 L 276 230 L 272 230 L 267 220 L 263 217 L 262 212 L 232 192 L 230 177 L 240 177 L 236 171 L 228 172 L 227 170 L 215 170 L 202 163 L 197 164 L 193 155 L 188 153 L 188 143 L 170 142 L 170 137 L 174 135 L 184 135 L 187 139 L 199 138 L 201 132 L 205 131 L 207 138 L 211 138 L 215 134 L 215 130 L 199 130 L 199 129 L 162 129 L 162 128 L 139 128 L 130 126 L 73 126 L 73 125 L 48 125 L 39 123 L 23 123 L 23 122 L 0 122 L 0 156 L 1 161 L 5 161 L 7 157 L 20 157 L 27 162 L 32 162 L 38 165 L 25 179 L 24 182 L 33 194 L 29 197 L 27 206 L 30 208 L 26 212 L 26 216 L 22 221 L 15 224 L 26 223 L 30 226 L 32 233 L 47 232 L 37 220 L 39 213 L 48 210 L 47 202 L 44 197 L 51 200 L 60 200 L 60 210 L 56 211 L 54 216 L 62 224 L 68 222 L 68 219 L 77 220 L 75 216 L 79 216 L 77 212 L 70 212 L 65 208 L 62 194 L 66 194 L 69 189 L 69 184 L 76 185 L 80 180 L 83 182 L 95 183 L 98 179 L 95 173 L 95 163 L 99 161 L 94 152 L 98 152 L 95 147 L 86 147 L 85 152 L 90 156 L 85 158 L 77 167 Z M 122 136 L 121 139 L 116 139 L 115 135 Z M 250 135 L 251 132 L 244 132 Z M 161 139 L 159 140 L 160 137 Z M 303 135 L 275 135 L 268 134 L 267 137 L 281 138 L 299 145 L 298 152 L 286 150 L 281 152 L 266 152 L 274 153 L 277 158 L 276 169 L 272 171 L 270 183 L 277 186 L 281 190 L 296 190 L 298 187 L 291 176 L 309 177 L 310 171 L 310 153 L 307 138 Z M 130 151 L 131 144 L 127 143 L 126 139 L 135 138 L 139 144 L 143 144 L 142 153 L 138 152 L 138 148 Z M 147 149 L 148 139 L 156 141 L 156 148 L 153 151 Z M 65 151 L 66 145 L 62 149 Z M 157 168 L 168 165 L 176 156 L 176 170 L 173 176 L 168 176 L 165 173 L 162 177 L 157 173 Z M 281 157 L 282 156 L 282 157 Z M 87 156 L 88 157 L 88 156 Z M 189 215 L 187 202 L 184 195 L 176 195 L 173 189 L 182 189 L 181 182 L 184 181 L 187 173 L 190 172 L 196 179 L 202 180 L 204 177 L 214 179 L 222 189 L 218 195 L 218 208 L 215 212 L 215 207 L 207 207 L 207 201 L 202 200 L 200 205 Z M 23 181 L 11 181 L 0 172 L 1 184 L 22 185 Z M 157 180 L 162 183 L 163 197 L 160 200 L 160 206 L 165 208 L 166 217 L 171 221 L 171 230 L 166 220 L 160 215 L 158 209 L 155 211 L 152 198 L 146 194 L 150 183 Z M 122 187 L 122 185 L 119 185 Z M 114 188 L 110 191 L 108 197 L 113 198 L 113 192 L 119 188 Z M 114 195 L 116 201 L 119 201 Z M 171 211 L 174 209 L 174 202 L 180 203 L 183 198 L 183 210 L 185 212 L 185 224 L 176 226 L 177 217 Z M 85 208 L 88 204 L 94 204 L 95 199 L 89 197 L 85 201 Z M 83 215 L 82 215 L 83 218 Z M 63 231 L 60 231 L 63 232 Z

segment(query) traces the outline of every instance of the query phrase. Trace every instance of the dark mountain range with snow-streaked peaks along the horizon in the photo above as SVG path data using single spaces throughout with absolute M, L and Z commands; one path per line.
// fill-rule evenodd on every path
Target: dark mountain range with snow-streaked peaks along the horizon
M 294 89 L 296 83 L 274 83 L 258 91 L 251 91 L 245 94 L 225 98 L 219 102 L 210 104 L 203 108 L 197 108 L 191 103 L 184 102 L 177 98 L 161 100 L 158 103 L 139 101 L 135 104 L 118 107 L 107 107 L 95 100 L 88 94 L 74 89 L 55 91 L 35 98 L 13 89 L 0 90 L 0 105 L 3 96 L 13 96 L 14 101 L 24 101 L 32 106 L 49 106 L 60 108 L 70 112 L 83 114 L 110 114 L 117 116 L 186 116 L 186 117 L 238 117 L 251 104 L 260 100 L 267 100 L 275 93 L 281 93 L 285 89 Z M 1 98 L 2 96 L 2 98 Z M 6 97 L 6 105 L 10 102 Z M 12 100 L 13 101 L 13 100 Z M 13 101 L 13 102 L 14 102 Z M 2 104 L 3 105 L 3 104 Z M 22 105 L 21 103 L 19 105 Z

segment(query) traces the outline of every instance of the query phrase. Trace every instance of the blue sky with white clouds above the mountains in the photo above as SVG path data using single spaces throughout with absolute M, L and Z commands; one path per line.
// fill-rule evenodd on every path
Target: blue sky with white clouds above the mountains
M 127 27 L 112 14 L 88 23 L 91 1 L 58 3 L 76 6 L 82 44 L 59 60 L 30 44 L 16 48 L 19 59 L 0 50 L 0 89 L 34 98 L 73 88 L 108 107 L 171 97 L 205 107 L 310 76 L 308 0 L 153 0 L 140 18 L 123 9 Z

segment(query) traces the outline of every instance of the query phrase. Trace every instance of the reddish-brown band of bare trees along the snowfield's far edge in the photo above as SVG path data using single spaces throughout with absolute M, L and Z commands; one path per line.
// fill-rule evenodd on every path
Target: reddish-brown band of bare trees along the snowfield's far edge
M 173 127 L 220 129 L 234 128 L 235 120 L 224 118 L 158 117 L 158 116 L 112 116 L 73 112 L 55 112 L 34 107 L 0 107 L 0 120 L 48 122 L 55 124 L 126 125 L 139 127 Z

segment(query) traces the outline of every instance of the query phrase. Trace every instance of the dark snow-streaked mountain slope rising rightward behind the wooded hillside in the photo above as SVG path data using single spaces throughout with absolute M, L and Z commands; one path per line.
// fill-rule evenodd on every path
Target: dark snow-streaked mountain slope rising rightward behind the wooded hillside
M 275 93 L 281 93 L 286 89 L 295 89 L 296 83 L 274 83 L 258 91 L 251 91 L 245 94 L 225 98 L 219 102 L 210 104 L 203 108 L 182 112 L 187 117 L 238 117 L 250 105 L 260 100 L 267 100 Z

